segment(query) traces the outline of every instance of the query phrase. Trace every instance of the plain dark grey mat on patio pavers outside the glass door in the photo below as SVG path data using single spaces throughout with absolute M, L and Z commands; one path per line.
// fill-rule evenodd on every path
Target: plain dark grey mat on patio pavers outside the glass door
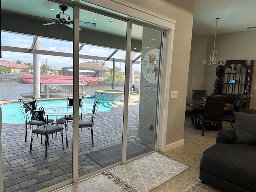
M 132 142 L 127 142 L 127 159 L 145 154 L 150 150 L 134 144 Z M 117 162 L 120 162 L 122 159 L 122 144 L 117 144 L 111 147 L 107 147 L 101 150 L 90 152 L 86 154 L 92 160 L 102 167 L 106 167 Z

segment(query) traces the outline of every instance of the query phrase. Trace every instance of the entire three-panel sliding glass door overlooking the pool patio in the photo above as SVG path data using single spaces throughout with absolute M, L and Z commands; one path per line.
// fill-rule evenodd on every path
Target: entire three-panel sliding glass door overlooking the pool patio
M 72 4 L 2 1 L 6 191 L 52 190 L 156 150 L 163 32 Z M 64 149 L 59 133 L 35 135 L 30 153 L 18 99 L 32 96 L 64 128 Z

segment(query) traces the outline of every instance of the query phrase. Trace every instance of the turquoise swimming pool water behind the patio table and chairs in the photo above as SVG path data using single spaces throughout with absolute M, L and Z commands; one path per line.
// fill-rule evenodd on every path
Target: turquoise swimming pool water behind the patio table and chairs
M 95 98 L 84 98 L 83 107 L 87 108 L 88 115 L 92 113 L 92 106 Z M 55 100 L 36 100 L 37 108 L 43 106 L 44 108 L 50 107 L 65 107 L 67 106 L 67 99 L 55 99 Z M 110 106 L 121 104 L 122 102 L 109 102 L 100 100 L 100 106 L 98 107 L 98 112 L 111 112 Z M 22 124 L 24 122 L 24 116 L 20 103 L 11 102 L 6 104 L 1 104 L 2 107 L 2 121 L 3 123 L 9 124 Z M 49 118 L 55 120 L 55 116 L 49 116 Z

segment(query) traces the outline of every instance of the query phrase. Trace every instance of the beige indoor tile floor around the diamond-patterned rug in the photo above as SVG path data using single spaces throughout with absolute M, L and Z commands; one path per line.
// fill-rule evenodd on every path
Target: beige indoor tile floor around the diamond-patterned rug
M 222 130 L 228 129 L 232 129 L 230 123 L 223 122 Z M 204 136 L 202 136 L 202 131 L 194 129 L 190 118 L 186 118 L 184 128 L 185 144 L 166 152 L 166 154 L 190 164 L 191 167 L 155 188 L 152 192 L 183 192 L 198 181 L 200 156 L 204 150 L 215 144 L 216 134 L 217 132 L 215 131 L 205 131 Z M 127 190 L 122 189 L 121 186 L 115 184 L 107 176 L 98 174 L 57 192 L 127 192 Z

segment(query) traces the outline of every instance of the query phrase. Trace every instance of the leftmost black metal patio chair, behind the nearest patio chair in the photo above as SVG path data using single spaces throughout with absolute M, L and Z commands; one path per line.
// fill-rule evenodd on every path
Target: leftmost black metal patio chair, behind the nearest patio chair
M 32 120 L 30 116 L 30 110 L 36 110 L 37 109 L 37 104 L 36 104 L 36 98 L 32 97 L 31 102 L 24 102 L 22 99 L 18 99 L 18 102 L 20 103 L 20 107 L 24 116 L 24 121 L 25 121 L 25 142 L 27 142 L 27 134 L 28 134 L 28 128 L 30 128 L 30 134 L 31 134 L 31 126 L 36 125 L 36 126 L 42 126 L 42 122 L 38 122 L 36 120 Z M 47 124 L 52 123 L 54 120 L 53 119 L 47 119 Z

